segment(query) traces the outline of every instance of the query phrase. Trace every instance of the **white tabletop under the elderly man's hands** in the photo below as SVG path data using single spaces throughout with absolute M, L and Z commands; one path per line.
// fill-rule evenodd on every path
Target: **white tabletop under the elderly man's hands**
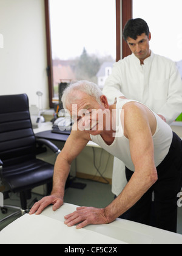
M 156 229 L 125 219 L 107 225 L 89 225 L 76 230 L 64 224 L 64 216 L 76 210 L 76 205 L 64 204 L 53 212 L 47 207 L 41 215 L 24 215 L 0 232 L 4 243 L 59 244 L 181 244 L 182 235 Z

